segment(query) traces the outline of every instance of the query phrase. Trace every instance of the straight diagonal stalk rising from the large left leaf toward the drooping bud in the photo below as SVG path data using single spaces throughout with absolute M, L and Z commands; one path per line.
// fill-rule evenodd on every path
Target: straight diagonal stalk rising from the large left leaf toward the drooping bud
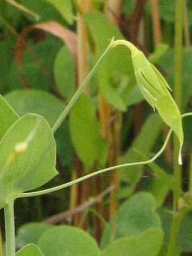
M 66 116 L 68 115 L 69 111 L 72 109 L 73 105 L 75 104 L 75 102 L 77 101 L 78 97 L 80 97 L 81 93 L 83 92 L 86 84 L 88 84 L 89 80 L 91 79 L 91 77 L 94 75 L 95 71 L 97 70 L 97 68 L 99 67 L 99 64 L 102 62 L 102 60 L 104 59 L 104 57 L 107 55 L 108 51 L 111 49 L 111 45 L 114 42 L 114 38 L 112 38 L 110 44 L 108 45 L 108 47 L 106 48 L 106 50 L 104 50 L 104 53 L 101 55 L 101 57 L 98 59 L 97 63 L 95 64 L 95 66 L 93 67 L 93 69 L 90 71 L 89 75 L 85 78 L 85 80 L 83 81 L 83 83 L 79 86 L 79 88 L 77 89 L 76 93 L 73 95 L 71 101 L 69 101 L 66 109 L 64 109 L 64 111 L 62 112 L 62 114 L 59 116 L 58 120 L 56 120 L 55 124 L 52 127 L 52 131 L 53 133 L 56 132 L 56 130 L 59 128 L 60 124 L 63 122 L 63 120 L 66 118 Z

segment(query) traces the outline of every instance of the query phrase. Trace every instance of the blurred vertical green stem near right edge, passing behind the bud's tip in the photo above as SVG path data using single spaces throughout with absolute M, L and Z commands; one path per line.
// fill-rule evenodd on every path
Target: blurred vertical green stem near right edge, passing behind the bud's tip
M 182 112 L 182 27 L 183 27 L 183 0 L 176 0 L 176 16 L 174 30 L 174 90 L 173 96 L 178 109 Z M 173 169 L 174 181 L 177 188 L 181 189 L 181 166 L 177 163 L 178 150 L 180 148 L 177 136 L 173 136 Z M 180 221 L 178 215 L 177 193 L 173 192 L 173 211 L 174 218 L 171 227 L 170 240 L 168 246 L 168 255 L 173 255 L 177 246 L 177 237 Z

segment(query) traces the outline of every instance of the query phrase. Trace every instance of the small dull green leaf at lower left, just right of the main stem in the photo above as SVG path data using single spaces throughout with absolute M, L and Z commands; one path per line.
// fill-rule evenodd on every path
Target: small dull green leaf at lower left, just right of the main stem
M 37 244 L 37 240 L 51 227 L 53 226 L 37 222 L 21 225 L 16 235 L 16 246 L 21 247 L 30 243 Z

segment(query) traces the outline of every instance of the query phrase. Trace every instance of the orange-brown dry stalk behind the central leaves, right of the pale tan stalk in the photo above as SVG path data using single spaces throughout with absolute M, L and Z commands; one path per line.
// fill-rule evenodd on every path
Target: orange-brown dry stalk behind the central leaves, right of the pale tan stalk
M 108 0 L 105 2 L 105 14 L 117 27 L 119 27 L 120 24 L 122 5 L 122 0 Z M 119 111 L 111 111 L 111 107 L 101 94 L 99 94 L 99 118 L 103 137 L 106 138 L 109 145 L 108 166 L 113 166 L 117 164 L 120 155 L 121 113 Z M 115 213 L 119 205 L 119 201 L 115 196 L 120 185 L 119 170 L 115 170 L 114 173 L 112 173 L 111 184 L 114 184 L 116 189 L 110 194 L 111 202 L 108 209 L 109 219 Z

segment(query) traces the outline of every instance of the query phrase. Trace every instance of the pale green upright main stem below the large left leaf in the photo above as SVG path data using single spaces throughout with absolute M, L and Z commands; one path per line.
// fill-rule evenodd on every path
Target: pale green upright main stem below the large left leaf
M 6 232 L 6 256 L 15 256 L 15 220 L 14 201 L 10 201 L 4 207 L 5 232 Z

